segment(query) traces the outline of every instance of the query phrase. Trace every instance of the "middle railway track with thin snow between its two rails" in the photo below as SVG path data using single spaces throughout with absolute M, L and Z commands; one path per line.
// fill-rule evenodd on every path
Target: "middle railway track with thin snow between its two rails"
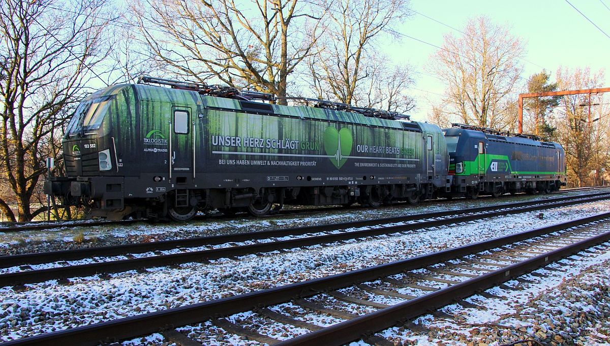
M 442 211 L 224 236 L 0 256 L 0 268 L 3 269 L 0 270 L 0 287 L 14 286 L 15 289 L 25 289 L 24 284 L 40 283 L 52 279 L 59 279 L 61 283 L 68 283 L 69 278 L 79 276 L 100 275 L 101 278 L 107 278 L 109 273 L 126 272 L 128 270 L 146 271 L 146 268 L 152 267 L 178 265 L 189 262 L 205 262 L 218 258 L 268 253 L 271 251 L 341 242 L 343 240 L 395 234 L 415 229 L 472 222 L 500 215 L 519 214 L 522 212 L 589 203 L 608 198 L 610 198 L 610 192 L 597 193 L 584 198 L 583 196 L 571 196 L 544 201 L 478 207 L 466 209 L 459 212 L 459 214 L 456 214 L 455 211 Z M 310 236 L 304 236 L 308 234 Z M 281 239 L 282 237 L 292 238 Z M 180 251 L 173 251 L 173 253 L 162 252 L 176 249 L 180 249 Z M 86 264 L 78 262 L 70 264 L 66 262 L 93 258 L 96 258 L 98 262 Z M 39 264 L 45 265 L 38 269 L 37 265 Z

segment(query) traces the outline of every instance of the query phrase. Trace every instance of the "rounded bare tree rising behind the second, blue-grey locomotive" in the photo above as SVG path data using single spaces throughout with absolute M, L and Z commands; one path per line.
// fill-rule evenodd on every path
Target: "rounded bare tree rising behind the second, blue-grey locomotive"
M 511 26 L 489 18 L 470 19 L 459 37 L 444 35 L 441 49 L 427 69 L 447 85 L 442 112 L 452 120 L 506 128 L 511 104 L 506 102 L 523 71 L 525 44 L 511 35 Z

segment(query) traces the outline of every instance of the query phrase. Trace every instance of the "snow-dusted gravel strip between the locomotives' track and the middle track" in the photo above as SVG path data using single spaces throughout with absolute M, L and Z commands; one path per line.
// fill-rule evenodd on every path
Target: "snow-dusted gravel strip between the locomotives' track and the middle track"
M 417 206 L 382 207 L 379 209 L 351 209 L 347 211 L 312 212 L 301 215 L 271 215 L 264 218 L 239 217 L 231 220 L 204 218 L 188 224 L 136 223 L 125 226 L 103 225 L 82 228 L 55 228 L 38 231 L 12 233 L 0 232 L 0 255 L 40 251 L 64 250 L 68 248 L 99 247 L 134 242 L 184 239 L 188 237 L 213 236 L 262 229 L 290 228 L 338 223 L 345 220 L 365 220 L 369 218 L 394 217 L 425 212 L 464 210 L 490 204 L 509 204 L 520 201 L 546 200 L 564 196 L 600 193 L 610 189 L 573 190 L 553 195 L 530 196 L 519 194 L 503 198 L 482 197 L 479 200 L 459 199 L 453 201 L 425 201 Z

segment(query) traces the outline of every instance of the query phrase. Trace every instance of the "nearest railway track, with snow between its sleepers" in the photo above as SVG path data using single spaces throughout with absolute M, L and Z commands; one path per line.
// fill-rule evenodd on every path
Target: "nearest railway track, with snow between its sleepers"
M 455 301 L 473 307 L 462 299 L 477 293 L 489 295 L 483 290 L 583 250 L 608 251 L 610 245 L 593 248 L 608 240 L 610 213 L 603 213 L 375 267 L 3 345 L 111 344 L 159 331 L 179 345 L 201 345 L 201 340 L 179 331 L 179 327 L 190 326 L 187 330 L 193 335 L 214 328 L 242 340 L 281 346 L 343 345 L 361 339 L 371 345 L 390 346 L 393 343 L 377 334 L 379 331 L 395 325 L 412 328 L 409 321 L 415 317 Z M 346 305 L 351 307 L 349 311 Z M 244 313 L 251 318 L 231 317 Z M 325 315 L 332 323 L 320 326 L 306 322 L 303 316 L 310 314 Z M 253 320 L 258 324 L 252 325 Z M 284 334 L 270 333 L 279 326 Z

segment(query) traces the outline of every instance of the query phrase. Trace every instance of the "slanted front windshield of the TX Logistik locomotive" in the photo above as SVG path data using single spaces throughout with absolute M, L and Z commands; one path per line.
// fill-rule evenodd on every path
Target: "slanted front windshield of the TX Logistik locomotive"
M 110 107 L 110 101 L 113 96 L 104 96 L 101 98 L 91 99 L 84 101 L 79 104 L 70 124 L 68 124 L 68 131 L 66 131 L 66 137 L 70 135 L 87 135 L 88 131 L 95 131 L 99 129 L 104 116 L 108 112 Z

